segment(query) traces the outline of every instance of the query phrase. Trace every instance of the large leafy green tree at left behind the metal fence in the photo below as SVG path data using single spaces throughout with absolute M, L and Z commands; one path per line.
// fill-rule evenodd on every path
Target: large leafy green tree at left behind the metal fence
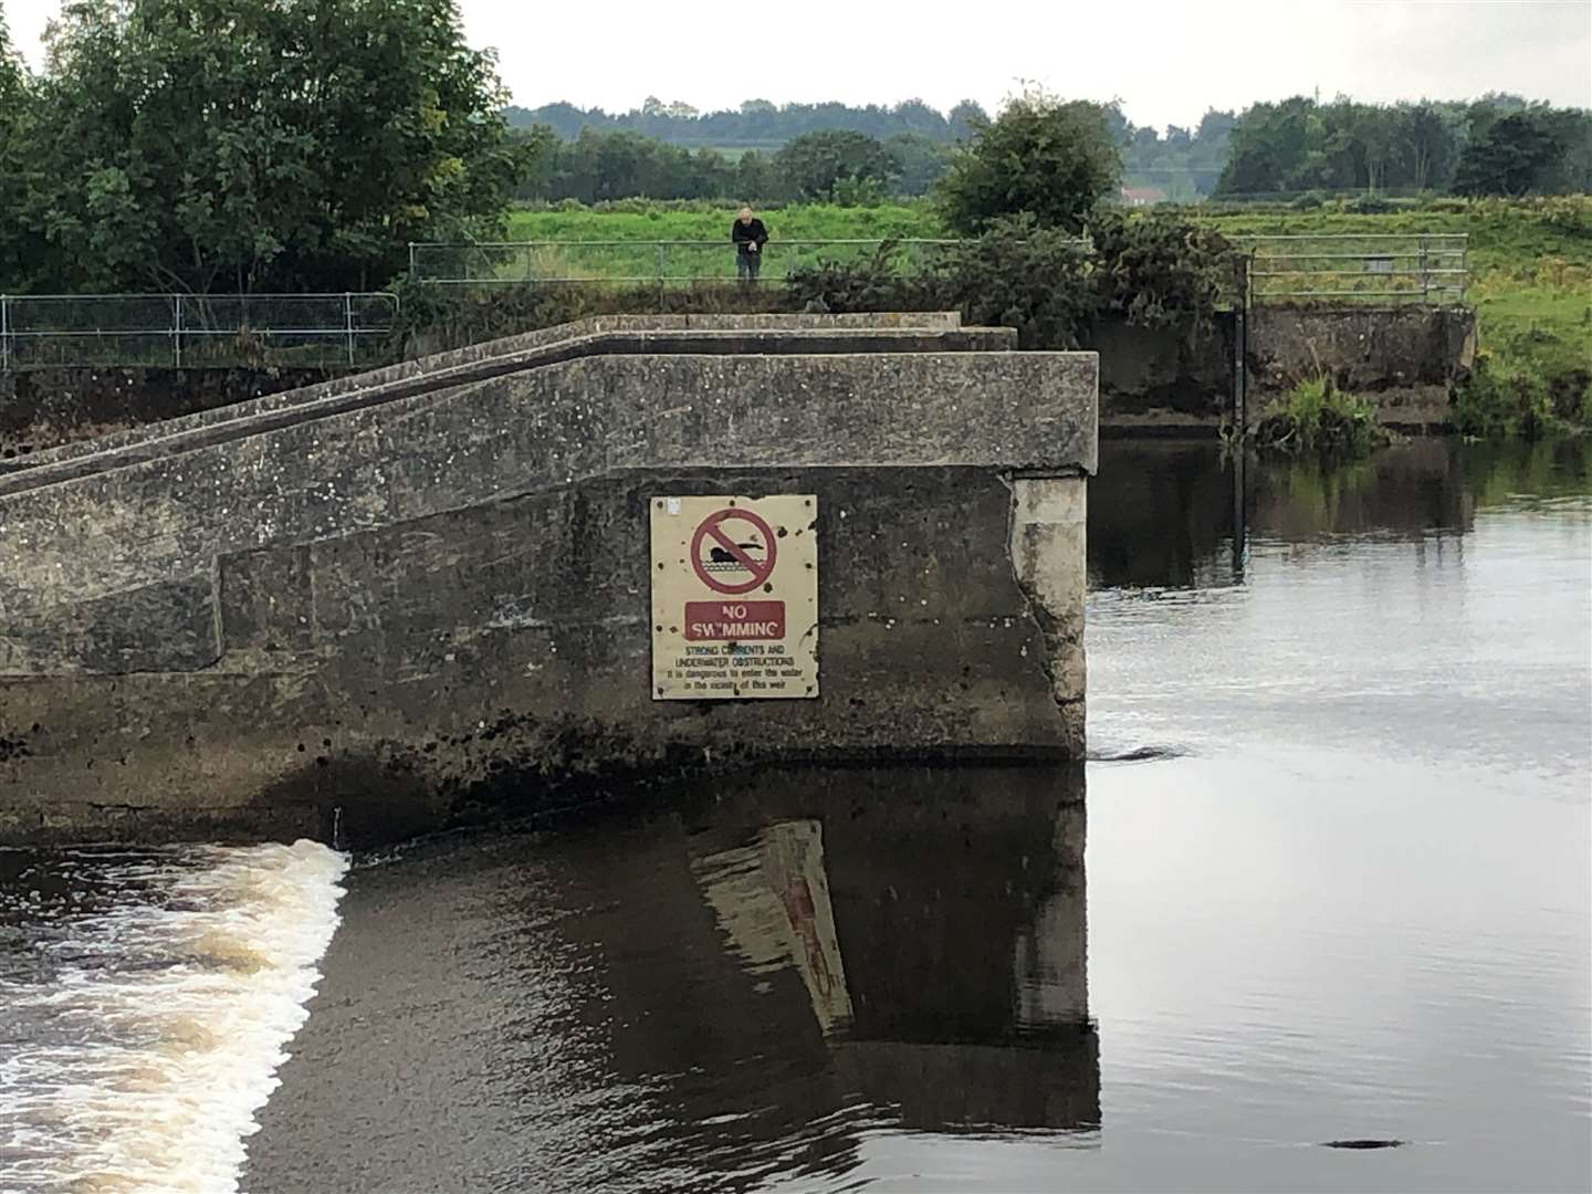
M 38 236 L 73 288 L 385 285 L 525 166 L 454 0 L 76 0 L 48 53 Z

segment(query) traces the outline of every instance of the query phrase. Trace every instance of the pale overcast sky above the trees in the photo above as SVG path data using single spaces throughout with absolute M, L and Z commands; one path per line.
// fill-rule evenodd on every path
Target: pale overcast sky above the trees
M 35 65 L 59 0 L 0 0 Z M 837 99 L 987 108 L 1022 80 L 1194 124 L 1320 89 L 1366 100 L 1512 91 L 1592 107 L 1592 0 L 460 0 L 514 102 L 624 110 Z

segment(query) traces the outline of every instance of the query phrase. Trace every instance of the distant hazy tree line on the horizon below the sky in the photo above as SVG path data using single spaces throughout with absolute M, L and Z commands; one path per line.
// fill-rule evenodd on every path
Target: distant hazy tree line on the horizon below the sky
M 1519 96 L 1393 105 L 1294 97 L 1239 113 L 1213 108 L 1192 127 L 1164 131 L 1135 126 L 1121 103 L 1097 107 L 1124 185 L 1151 201 L 1592 189 L 1592 113 Z M 888 108 L 748 100 L 740 110 L 700 113 L 648 99 L 626 113 L 570 103 L 511 108 L 509 121 L 541 146 L 537 175 L 517 191 L 524 199 L 769 204 L 928 194 L 957 146 L 990 118 L 971 100 L 947 113 L 922 100 Z

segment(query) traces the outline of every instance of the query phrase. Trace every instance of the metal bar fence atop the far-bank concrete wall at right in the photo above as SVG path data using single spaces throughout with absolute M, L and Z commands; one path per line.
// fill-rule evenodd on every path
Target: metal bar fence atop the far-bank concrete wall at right
M 1242 236 L 1251 302 L 1368 299 L 1458 302 L 1469 282 L 1465 232 Z

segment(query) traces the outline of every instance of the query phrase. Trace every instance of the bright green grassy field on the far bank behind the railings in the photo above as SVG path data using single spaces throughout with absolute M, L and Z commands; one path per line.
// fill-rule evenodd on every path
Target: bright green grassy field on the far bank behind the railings
M 616 207 L 619 210 L 516 212 L 511 237 L 726 242 L 734 217 L 728 207 L 645 202 Z M 1385 215 L 1180 210 L 1229 236 L 1466 232 L 1471 269 L 1466 301 L 1476 306 L 1482 350 L 1495 368 L 1539 377 L 1573 377 L 1576 371 L 1592 369 L 1592 199 L 1587 196 L 1520 202 L 1450 199 Z M 946 236 L 928 204 L 802 205 L 761 215 L 774 237 L 769 256 L 769 272 L 774 274 L 780 272 L 777 250 L 782 240 Z M 799 256 L 806 259 L 812 253 Z M 790 259 L 796 258 L 790 253 Z M 723 255 L 712 247 L 700 250 L 700 261 L 693 269 L 728 272 L 728 245 Z M 624 269 L 650 271 L 651 266 L 645 261 L 640 266 L 627 263 Z M 602 277 L 605 272 L 594 269 L 589 275 Z

